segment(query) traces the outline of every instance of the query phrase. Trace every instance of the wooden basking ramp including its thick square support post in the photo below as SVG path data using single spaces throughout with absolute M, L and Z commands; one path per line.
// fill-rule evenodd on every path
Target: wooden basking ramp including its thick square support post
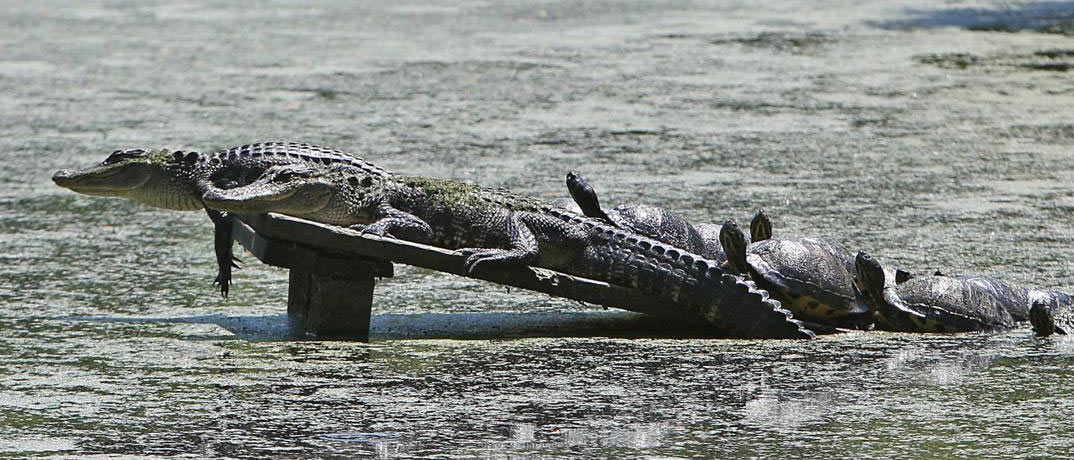
M 262 262 L 290 270 L 288 315 L 318 336 L 366 336 L 376 279 L 392 276 L 393 262 L 466 276 L 466 257 L 454 250 L 278 214 L 241 216 L 233 235 Z M 551 270 L 520 267 L 474 277 L 632 312 L 679 316 L 654 296 Z

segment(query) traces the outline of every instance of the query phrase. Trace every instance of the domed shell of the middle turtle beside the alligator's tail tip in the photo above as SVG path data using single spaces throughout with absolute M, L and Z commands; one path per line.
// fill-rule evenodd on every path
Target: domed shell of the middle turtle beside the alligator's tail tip
M 843 261 L 816 240 L 772 239 L 754 243 L 746 263 L 754 278 L 764 279 L 796 317 L 847 326 L 840 318 L 867 316 L 871 312 Z

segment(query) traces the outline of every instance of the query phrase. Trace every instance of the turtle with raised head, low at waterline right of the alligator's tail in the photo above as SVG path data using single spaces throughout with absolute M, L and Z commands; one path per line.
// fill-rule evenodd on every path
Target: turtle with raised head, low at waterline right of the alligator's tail
M 896 332 L 996 331 L 1014 319 L 988 291 L 950 276 L 918 276 L 890 283 L 879 260 L 858 253 L 858 282 L 876 312 L 876 327 Z

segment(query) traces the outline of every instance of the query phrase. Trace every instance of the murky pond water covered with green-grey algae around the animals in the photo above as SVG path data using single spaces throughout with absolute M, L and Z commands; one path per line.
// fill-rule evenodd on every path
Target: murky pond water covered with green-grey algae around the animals
M 1074 342 L 1028 327 L 661 339 L 398 267 L 372 343 L 305 342 L 284 271 L 214 294 L 203 215 L 48 181 L 277 139 L 548 198 L 576 169 L 606 203 L 764 207 L 781 234 L 1069 291 L 1072 2 L 8 3 L 0 457 L 1074 455 Z

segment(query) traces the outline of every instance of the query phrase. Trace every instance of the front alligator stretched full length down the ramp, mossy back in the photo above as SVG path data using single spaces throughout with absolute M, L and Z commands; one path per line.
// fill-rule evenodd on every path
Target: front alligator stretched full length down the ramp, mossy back
M 767 292 L 715 261 L 504 190 L 290 166 L 271 168 L 247 186 L 211 189 L 203 200 L 230 213 L 279 212 L 460 249 L 470 273 L 529 264 L 640 289 L 729 336 L 814 336 Z

